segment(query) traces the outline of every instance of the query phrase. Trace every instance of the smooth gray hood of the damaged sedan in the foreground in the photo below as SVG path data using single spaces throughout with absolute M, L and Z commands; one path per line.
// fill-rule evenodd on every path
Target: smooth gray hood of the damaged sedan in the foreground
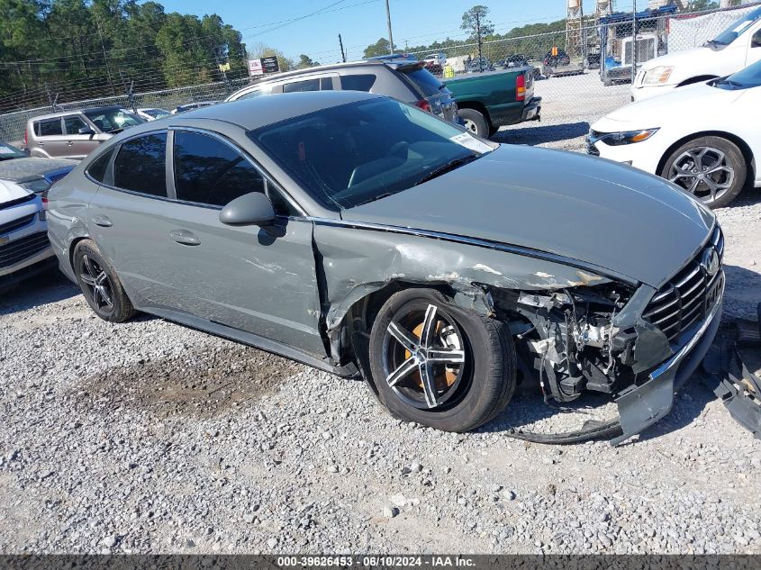
M 342 216 L 539 249 L 654 287 L 697 253 L 715 221 L 674 185 L 635 168 L 507 145 Z

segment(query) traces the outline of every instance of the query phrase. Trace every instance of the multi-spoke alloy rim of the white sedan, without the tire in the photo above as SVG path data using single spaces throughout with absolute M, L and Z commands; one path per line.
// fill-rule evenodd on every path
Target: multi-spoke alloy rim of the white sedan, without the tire
M 668 179 L 710 204 L 732 187 L 735 169 L 720 149 L 696 147 L 685 150 L 675 159 L 669 169 Z

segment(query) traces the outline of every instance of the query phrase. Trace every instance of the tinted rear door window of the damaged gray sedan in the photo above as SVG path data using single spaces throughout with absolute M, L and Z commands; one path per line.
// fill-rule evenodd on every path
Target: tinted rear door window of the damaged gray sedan
M 167 197 L 167 133 L 127 140 L 113 163 L 113 185 L 124 190 Z

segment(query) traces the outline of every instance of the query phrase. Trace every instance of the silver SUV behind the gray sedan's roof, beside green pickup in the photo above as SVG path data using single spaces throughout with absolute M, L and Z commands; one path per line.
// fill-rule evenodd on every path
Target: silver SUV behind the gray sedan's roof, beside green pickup
M 279 73 L 243 87 L 225 101 L 299 91 L 367 91 L 459 122 L 454 95 L 425 68 L 425 62 L 394 56 Z

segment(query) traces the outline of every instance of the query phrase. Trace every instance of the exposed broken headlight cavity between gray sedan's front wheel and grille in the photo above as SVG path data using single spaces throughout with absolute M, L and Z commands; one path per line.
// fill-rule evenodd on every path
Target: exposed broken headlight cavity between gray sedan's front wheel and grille
M 546 401 L 570 402 L 586 390 L 615 394 L 635 382 L 637 333 L 615 326 L 632 287 L 608 283 L 547 292 L 494 289 L 491 294 L 524 367 L 539 373 Z

